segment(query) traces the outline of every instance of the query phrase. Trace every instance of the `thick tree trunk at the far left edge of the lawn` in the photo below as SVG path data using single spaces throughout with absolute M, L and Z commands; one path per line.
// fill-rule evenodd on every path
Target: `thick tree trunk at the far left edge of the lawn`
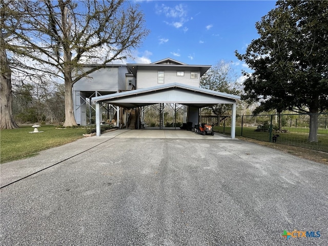
M 11 70 L 8 65 L 7 54 L 6 54 L 6 50 L 3 48 L 3 45 L 0 45 L 0 49 L 1 49 L 0 51 L 1 52 L 0 129 L 14 129 L 14 128 L 18 128 L 18 126 L 14 120 L 14 115 L 12 113 Z

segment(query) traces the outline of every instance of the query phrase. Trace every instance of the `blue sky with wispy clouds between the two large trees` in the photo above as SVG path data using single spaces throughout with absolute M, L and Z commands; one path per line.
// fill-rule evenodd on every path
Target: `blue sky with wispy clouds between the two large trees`
M 234 52 L 244 53 L 258 37 L 255 23 L 276 1 L 135 1 L 150 34 L 137 50 L 135 63 L 173 58 L 195 65 L 232 61 L 248 70 Z M 129 61 L 130 62 L 130 61 Z

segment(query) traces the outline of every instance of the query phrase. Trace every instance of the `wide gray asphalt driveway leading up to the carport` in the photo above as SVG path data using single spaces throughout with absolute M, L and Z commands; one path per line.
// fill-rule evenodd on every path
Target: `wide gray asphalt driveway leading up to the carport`
M 328 166 L 220 135 L 140 133 L 1 165 L 1 244 L 328 244 Z

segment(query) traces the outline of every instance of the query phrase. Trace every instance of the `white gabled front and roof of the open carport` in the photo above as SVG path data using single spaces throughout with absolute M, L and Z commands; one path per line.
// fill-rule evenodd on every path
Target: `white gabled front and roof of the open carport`
M 92 101 L 127 109 L 160 103 L 204 108 L 216 104 L 235 104 L 238 99 L 240 96 L 178 83 L 92 97 Z

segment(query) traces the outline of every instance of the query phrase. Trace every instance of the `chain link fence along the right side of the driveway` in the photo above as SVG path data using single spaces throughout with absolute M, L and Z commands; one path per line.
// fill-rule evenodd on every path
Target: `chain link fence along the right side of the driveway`
M 231 116 L 222 118 L 220 125 L 215 126 L 214 130 L 230 134 Z M 318 141 L 310 142 L 309 134 L 309 114 L 281 114 L 280 129 L 278 114 L 236 117 L 236 136 L 328 152 L 328 114 L 318 114 Z

